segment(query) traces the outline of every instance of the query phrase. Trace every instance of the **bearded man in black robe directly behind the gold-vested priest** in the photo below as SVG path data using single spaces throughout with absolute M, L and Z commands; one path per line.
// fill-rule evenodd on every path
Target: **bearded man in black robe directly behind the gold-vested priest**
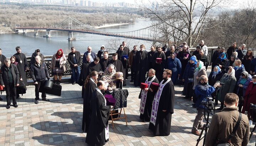
M 107 66 L 108 66 L 109 64 L 113 64 L 113 65 L 114 65 L 114 70 L 115 70 L 116 72 L 123 72 L 123 77 L 125 77 L 125 72 L 124 72 L 124 69 L 123 69 L 123 64 L 122 64 L 122 62 L 121 62 L 120 60 L 118 60 L 117 58 L 118 58 L 118 54 L 117 54 L 117 53 L 114 53 L 114 54 L 112 55 L 112 59 L 111 59 L 110 61 L 108 61 Z M 124 80 L 124 81 L 125 81 L 125 80 Z M 123 82 L 124 82 L 124 81 L 123 81 Z M 123 84 L 124 84 L 124 83 L 123 83 Z M 118 83 L 116 83 L 116 86 L 117 86 L 117 87 L 120 87 Z

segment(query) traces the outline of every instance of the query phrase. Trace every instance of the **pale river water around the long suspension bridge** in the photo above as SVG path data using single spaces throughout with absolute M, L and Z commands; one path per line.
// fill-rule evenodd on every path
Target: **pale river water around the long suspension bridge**
M 151 25 L 151 21 L 148 20 L 135 20 L 136 22 L 127 25 L 113 26 L 101 28 L 108 32 L 128 32 L 134 31 L 141 28 L 145 28 Z M 87 51 L 87 47 L 91 46 L 92 51 L 97 53 L 100 50 L 101 45 L 105 45 L 105 48 L 113 48 L 110 44 L 122 44 L 122 41 L 126 41 L 130 49 L 133 45 L 145 44 L 147 50 L 150 49 L 152 42 L 144 40 L 134 40 L 126 38 L 108 37 L 100 36 L 96 34 L 86 34 L 86 33 L 73 33 L 73 37 L 76 40 L 68 41 L 68 32 L 58 32 L 51 31 L 50 38 L 44 38 L 46 32 L 38 32 L 38 36 L 34 36 L 34 32 L 27 32 L 27 34 L 0 34 L 0 48 L 2 49 L 2 54 L 7 58 L 10 58 L 16 53 L 15 48 L 17 46 L 21 47 L 21 52 L 25 53 L 26 56 L 31 56 L 34 50 L 40 49 L 43 55 L 53 55 L 57 52 L 59 48 L 62 48 L 64 54 L 70 52 L 71 47 L 75 47 L 80 53 Z M 110 50 L 110 52 L 115 52 Z

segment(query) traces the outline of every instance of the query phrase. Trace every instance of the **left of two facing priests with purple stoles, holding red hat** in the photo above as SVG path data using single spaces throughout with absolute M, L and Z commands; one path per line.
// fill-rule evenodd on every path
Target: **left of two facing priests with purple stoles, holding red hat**
M 140 119 L 142 119 L 143 122 L 150 121 L 151 117 L 151 110 L 152 110 L 152 102 L 155 96 L 155 91 L 150 90 L 151 83 L 159 83 L 158 79 L 155 76 L 155 70 L 150 69 L 148 71 L 148 79 L 146 79 L 145 83 L 148 84 L 148 88 L 142 89 L 139 94 L 140 99 Z

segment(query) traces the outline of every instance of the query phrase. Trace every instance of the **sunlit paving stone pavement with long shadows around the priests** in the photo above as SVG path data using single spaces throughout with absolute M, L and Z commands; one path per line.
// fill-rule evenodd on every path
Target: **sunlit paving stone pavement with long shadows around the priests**
M 18 108 L 11 106 L 10 109 L 5 108 L 4 92 L 1 95 L 4 100 L 0 101 L 0 146 L 87 145 L 86 133 L 81 130 L 82 87 L 71 83 L 61 85 L 62 96 L 47 95 L 50 102 L 40 99 L 39 104 L 34 104 L 34 86 L 27 86 L 27 93 L 17 99 Z M 140 88 L 134 87 L 133 83 L 127 83 L 125 88 L 129 91 L 125 108 L 128 126 L 124 119 L 114 121 L 114 129 L 109 123 L 110 141 L 106 146 L 196 145 L 198 136 L 191 133 L 196 109 L 192 108 L 191 100 L 183 99 L 182 86 L 175 86 L 175 113 L 172 114 L 169 136 L 153 135 L 148 129 L 149 123 L 143 123 L 139 118 Z M 203 140 L 199 145 L 202 143 Z M 255 145 L 255 134 L 248 145 Z

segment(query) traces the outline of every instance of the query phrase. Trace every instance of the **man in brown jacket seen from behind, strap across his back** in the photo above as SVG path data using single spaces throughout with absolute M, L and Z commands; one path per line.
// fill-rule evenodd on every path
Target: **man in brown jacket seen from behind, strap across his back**
M 235 93 L 226 94 L 224 102 L 226 107 L 222 109 L 222 112 L 214 114 L 212 117 L 209 131 L 206 135 L 206 146 L 228 142 L 229 136 L 238 121 L 238 100 L 238 96 Z M 249 130 L 248 118 L 242 114 L 238 129 L 234 137 L 231 138 L 229 145 L 246 146 L 249 141 Z

